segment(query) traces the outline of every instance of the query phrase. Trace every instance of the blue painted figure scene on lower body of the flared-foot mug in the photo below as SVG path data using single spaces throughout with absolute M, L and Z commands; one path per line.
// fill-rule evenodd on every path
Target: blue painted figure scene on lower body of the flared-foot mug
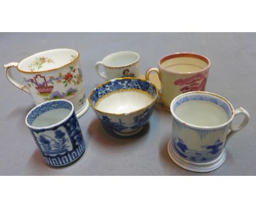
M 172 138 L 172 144 L 174 149 L 178 152 L 179 155 L 186 158 L 190 161 L 197 162 L 207 162 L 211 161 L 213 158 L 216 158 L 216 155 L 220 154 L 222 150 L 223 142 L 220 142 L 220 139 L 217 139 L 213 145 L 201 146 L 205 148 L 206 151 L 196 151 L 188 148 L 188 145 L 179 137 Z

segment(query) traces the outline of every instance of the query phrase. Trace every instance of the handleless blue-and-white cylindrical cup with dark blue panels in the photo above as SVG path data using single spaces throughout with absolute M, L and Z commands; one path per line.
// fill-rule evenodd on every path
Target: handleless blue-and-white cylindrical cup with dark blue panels
M 85 150 L 72 102 L 54 100 L 38 105 L 27 114 L 26 125 L 50 166 L 65 166 Z

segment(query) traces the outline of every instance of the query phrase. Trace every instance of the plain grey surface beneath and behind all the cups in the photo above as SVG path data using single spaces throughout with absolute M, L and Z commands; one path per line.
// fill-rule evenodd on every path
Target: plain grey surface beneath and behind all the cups
M 256 34 L 255 33 L 0 33 L 0 65 L 20 62 L 31 54 L 51 48 L 80 52 L 86 96 L 103 82 L 94 64 L 117 51 L 135 51 L 141 72 L 158 66 L 169 53 L 201 53 L 211 60 L 206 90 L 228 99 L 234 108 L 251 114 L 249 124 L 226 146 L 226 161 L 211 173 L 179 168 L 167 153 L 172 116 L 160 103 L 142 132 L 121 139 L 106 132 L 89 108 L 79 118 L 86 150 L 63 168 L 46 166 L 25 124 L 34 107 L 30 95 L 15 88 L 0 73 L 0 175 L 256 175 Z M 13 74 L 20 81 L 19 72 Z M 241 121 L 238 116 L 235 123 Z

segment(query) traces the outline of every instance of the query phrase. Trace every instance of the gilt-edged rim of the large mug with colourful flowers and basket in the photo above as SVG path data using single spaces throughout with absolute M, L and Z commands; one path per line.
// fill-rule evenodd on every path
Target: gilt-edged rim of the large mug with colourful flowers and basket
M 75 57 L 74 60 L 69 61 L 67 64 L 58 66 L 58 67 L 53 68 L 53 69 L 42 70 L 42 71 L 24 71 L 24 70 L 21 70 L 21 69 L 19 68 L 20 63 L 22 63 L 25 59 L 31 58 L 31 57 L 34 56 L 34 55 L 37 55 L 37 54 L 39 54 L 39 53 L 49 52 L 49 51 L 65 50 L 65 49 L 66 49 L 66 50 L 72 50 L 72 51 L 77 52 L 77 57 Z M 41 52 L 38 52 L 38 53 L 34 53 L 34 54 L 32 54 L 31 56 L 28 56 L 28 57 L 22 59 L 22 60 L 19 62 L 18 66 L 17 66 L 17 70 L 20 71 L 20 72 L 22 72 L 22 73 L 25 73 L 25 74 L 38 74 L 38 73 L 43 73 L 43 72 L 54 71 L 54 70 L 61 69 L 61 68 L 63 68 L 64 66 L 67 66 L 67 65 L 69 65 L 69 64 L 72 64 L 72 63 L 76 62 L 76 61 L 79 59 L 79 57 L 80 57 L 80 53 L 79 53 L 77 50 L 74 50 L 74 49 L 72 49 L 72 48 L 54 48 L 54 49 L 50 49 L 50 50 L 46 50 L 46 51 L 41 51 Z

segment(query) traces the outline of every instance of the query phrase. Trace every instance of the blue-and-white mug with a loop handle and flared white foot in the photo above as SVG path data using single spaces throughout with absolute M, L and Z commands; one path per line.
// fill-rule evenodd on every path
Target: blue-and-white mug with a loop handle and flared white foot
M 225 161 L 225 145 L 232 135 L 249 122 L 243 108 L 234 110 L 231 103 L 217 94 L 192 91 L 171 102 L 172 139 L 168 153 L 178 166 L 194 172 L 210 172 Z M 232 120 L 245 115 L 238 126 Z

